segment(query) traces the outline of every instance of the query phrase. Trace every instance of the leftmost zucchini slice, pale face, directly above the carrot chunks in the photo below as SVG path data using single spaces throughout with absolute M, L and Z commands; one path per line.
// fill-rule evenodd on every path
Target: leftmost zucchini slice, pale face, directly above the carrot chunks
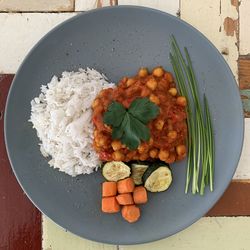
M 119 181 L 129 177 L 130 174 L 130 167 L 121 161 L 107 162 L 102 168 L 102 175 L 108 181 Z

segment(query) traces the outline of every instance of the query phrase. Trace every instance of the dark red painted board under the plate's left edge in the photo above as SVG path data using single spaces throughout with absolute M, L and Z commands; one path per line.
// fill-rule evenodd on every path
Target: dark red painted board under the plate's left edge
M 12 75 L 0 75 L 0 250 L 40 250 L 41 214 L 17 183 L 4 144 L 4 108 Z

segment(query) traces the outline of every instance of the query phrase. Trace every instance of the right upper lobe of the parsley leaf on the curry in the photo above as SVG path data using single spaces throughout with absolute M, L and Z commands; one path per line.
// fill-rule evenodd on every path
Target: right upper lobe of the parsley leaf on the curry
M 144 124 L 156 118 L 159 111 L 159 107 L 148 98 L 137 98 L 129 107 L 129 113 Z

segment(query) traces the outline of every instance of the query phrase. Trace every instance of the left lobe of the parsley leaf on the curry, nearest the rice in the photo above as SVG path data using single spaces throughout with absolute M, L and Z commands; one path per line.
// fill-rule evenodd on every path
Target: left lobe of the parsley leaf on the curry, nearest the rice
M 104 113 L 103 122 L 118 127 L 122 123 L 125 114 L 126 109 L 122 104 L 114 101 L 108 106 L 107 112 Z

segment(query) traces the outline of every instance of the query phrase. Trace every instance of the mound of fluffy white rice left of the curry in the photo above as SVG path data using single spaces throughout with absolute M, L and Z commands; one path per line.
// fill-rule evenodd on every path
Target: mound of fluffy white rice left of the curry
M 40 150 L 49 165 L 71 176 L 90 174 L 100 161 L 92 148 L 91 104 L 105 88 L 114 87 L 94 69 L 63 72 L 42 85 L 31 101 L 30 121 L 41 140 Z

